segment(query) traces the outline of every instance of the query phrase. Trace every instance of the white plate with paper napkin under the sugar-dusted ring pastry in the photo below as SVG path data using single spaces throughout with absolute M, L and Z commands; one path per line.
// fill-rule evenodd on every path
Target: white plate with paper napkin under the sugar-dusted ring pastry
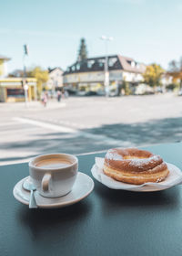
M 116 181 L 110 176 L 106 176 L 103 172 L 103 165 L 104 158 L 96 157 L 96 164 L 93 165 L 91 169 L 92 175 L 96 178 L 97 181 L 112 189 L 123 189 L 137 192 L 152 192 L 164 190 L 169 187 L 174 187 L 176 185 L 182 184 L 181 170 L 176 165 L 172 165 L 169 163 L 167 163 L 169 175 L 164 181 L 159 183 L 148 182 L 142 185 L 127 184 L 124 182 Z

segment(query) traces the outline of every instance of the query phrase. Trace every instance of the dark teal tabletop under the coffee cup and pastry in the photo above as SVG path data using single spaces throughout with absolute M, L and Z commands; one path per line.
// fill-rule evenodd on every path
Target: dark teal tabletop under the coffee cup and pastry
M 145 149 L 182 169 L 181 143 Z M 79 170 L 92 176 L 95 156 L 79 156 Z M 76 205 L 29 209 L 12 194 L 25 176 L 27 164 L 0 166 L 0 255 L 182 255 L 181 186 L 137 193 L 95 180 L 92 194 Z

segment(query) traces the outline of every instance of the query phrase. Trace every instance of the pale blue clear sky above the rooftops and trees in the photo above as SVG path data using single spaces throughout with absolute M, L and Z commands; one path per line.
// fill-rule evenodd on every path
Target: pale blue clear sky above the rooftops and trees
M 1 0 L 0 55 L 8 71 L 22 69 L 23 45 L 29 68 L 66 69 L 86 38 L 88 57 L 104 56 L 102 35 L 114 37 L 108 54 L 121 54 L 167 69 L 182 56 L 181 0 Z

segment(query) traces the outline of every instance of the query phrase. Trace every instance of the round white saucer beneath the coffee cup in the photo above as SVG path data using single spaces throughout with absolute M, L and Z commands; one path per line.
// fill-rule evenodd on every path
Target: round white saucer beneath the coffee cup
M 23 183 L 27 178 L 29 178 L 29 176 L 20 180 L 13 190 L 15 199 L 25 205 L 29 205 L 30 199 L 30 192 L 23 188 Z M 47 198 L 40 196 L 39 193 L 35 191 L 36 205 L 38 208 L 63 208 L 70 206 L 87 197 L 92 192 L 93 188 L 94 181 L 92 178 L 86 174 L 78 172 L 76 183 L 69 194 L 64 197 Z

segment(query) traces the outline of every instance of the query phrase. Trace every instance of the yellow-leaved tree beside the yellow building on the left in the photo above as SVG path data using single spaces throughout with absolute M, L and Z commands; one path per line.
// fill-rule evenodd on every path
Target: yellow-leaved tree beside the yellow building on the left
M 43 84 L 48 80 L 48 71 L 41 69 L 41 67 L 35 67 L 27 71 L 27 77 L 36 79 L 37 94 L 40 97 L 43 90 Z

